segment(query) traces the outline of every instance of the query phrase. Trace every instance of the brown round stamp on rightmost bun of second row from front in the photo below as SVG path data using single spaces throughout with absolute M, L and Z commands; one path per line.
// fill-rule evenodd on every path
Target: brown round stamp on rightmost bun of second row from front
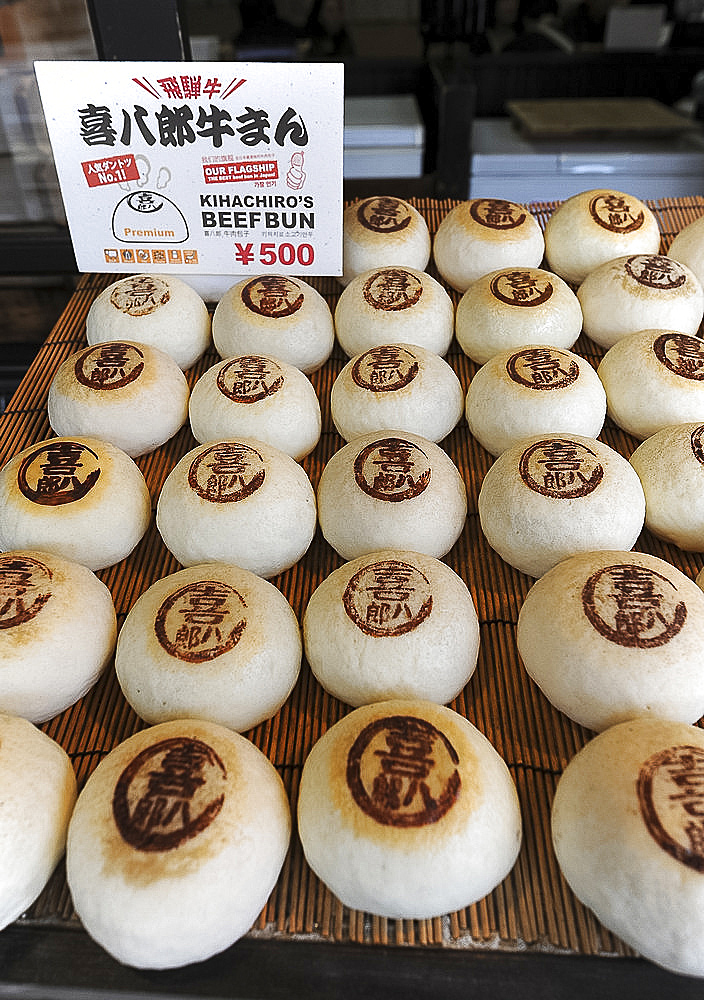
M 682 629 L 687 605 L 675 585 L 647 566 L 606 566 L 582 588 L 590 623 L 609 642 L 632 649 L 664 646 Z

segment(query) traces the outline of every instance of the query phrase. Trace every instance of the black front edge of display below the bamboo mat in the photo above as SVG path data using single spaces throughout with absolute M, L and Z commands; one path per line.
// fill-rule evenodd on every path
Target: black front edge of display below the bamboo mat
M 701 1000 L 640 958 L 243 938 L 180 969 L 120 965 L 77 928 L 0 934 L 0 996 L 31 1000 Z

